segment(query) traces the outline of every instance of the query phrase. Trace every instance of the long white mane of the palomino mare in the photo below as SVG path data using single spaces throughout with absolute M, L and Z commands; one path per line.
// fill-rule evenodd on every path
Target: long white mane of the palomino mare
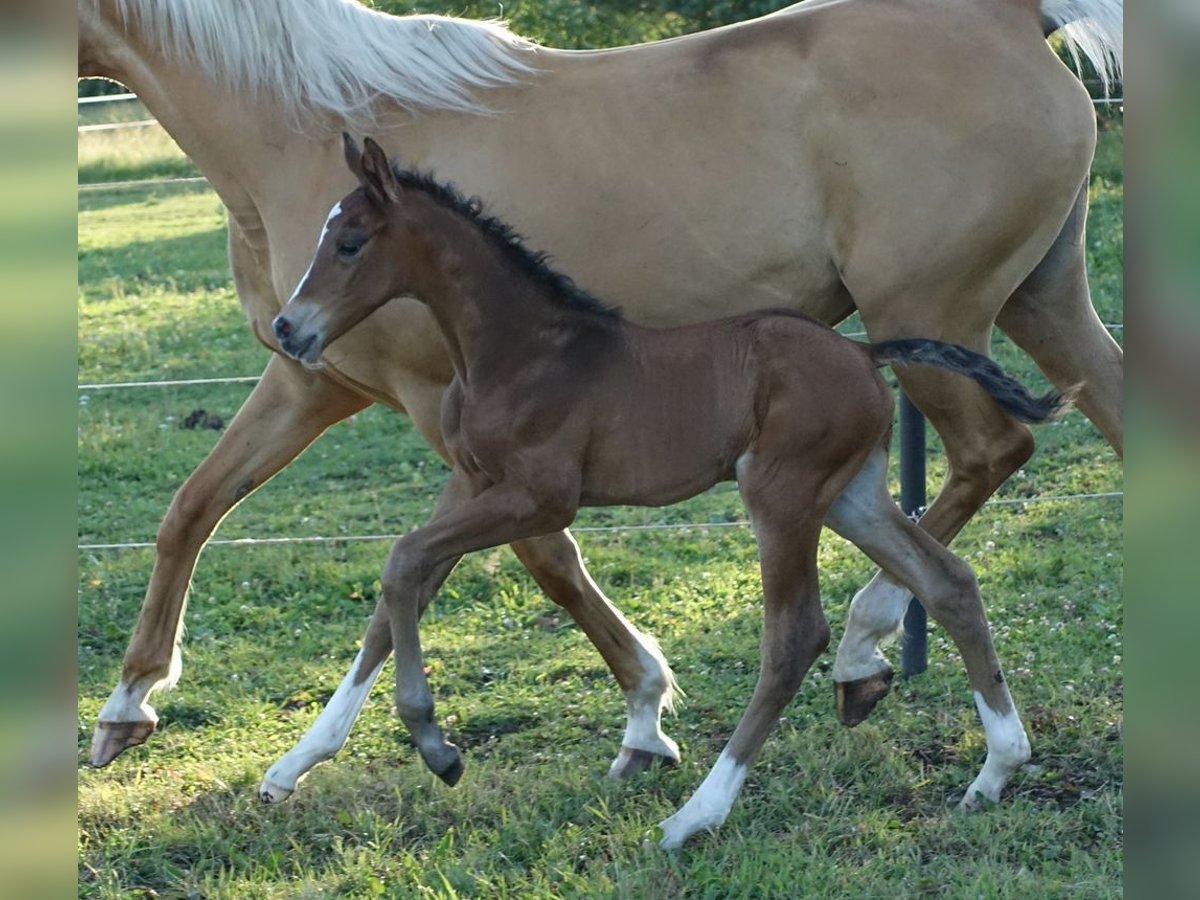
M 358 0 L 118 0 L 163 52 L 239 90 L 263 91 L 299 120 L 358 124 L 388 98 L 408 109 L 486 113 L 476 89 L 536 71 L 533 42 L 498 20 L 389 16 Z

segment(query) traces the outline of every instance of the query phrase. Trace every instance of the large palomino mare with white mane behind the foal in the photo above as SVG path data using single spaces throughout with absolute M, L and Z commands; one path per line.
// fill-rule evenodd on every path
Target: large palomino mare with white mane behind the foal
M 238 294 L 272 349 L 271 320 L 354 184 L 340 134 L 370 122 L 385 148 L 482 193 L 634 322 L 786 306 L 835 323 L 857 308 L 871 340 L 977 352 L 998 323 L 1055 384 L 1082 384 L 1079 407 L 1120 449 L 1121 352 L 1092 308 L 1082 241 L 1094 114 L 1044 41 L 1073 23 L 1068 37 L 1116 73 L 1120 0 L 811 0 L 595 53 L 350 0 L 78 2 L 80 74 L 134 90 L 208 176 L 229 210 Z M 454 368 L 421 304 L 385 304 L 322 364 L 274 356 L 172 502 L 95 764 L 152 732 L 150 694 L 180 674 L 197 557 L 239 500 L 372 402 L 407 412 L 446 455 L 439 409 Z M 949 458 L 922 520 L 944 544 L 1032 437 L 968 379 L 899 377 Z M 625 694 L 612 772 L 677 758 L 660 727 L 673 679 L 653 640 L 600 593 L 569 533 L 514 550 Z M 907 600 L 878 577 L 851 604 L 834 664 L 845 721 L 886 691 L 878 643 Z M 298 745 L 311 762 L 344 742 L 389 653 L 372 647 Z

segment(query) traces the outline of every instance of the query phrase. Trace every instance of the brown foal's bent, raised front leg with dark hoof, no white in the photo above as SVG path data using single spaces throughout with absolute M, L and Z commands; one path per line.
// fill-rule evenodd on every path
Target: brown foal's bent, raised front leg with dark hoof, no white
M 464 481 L 467 476 L 456 469 L 446 490 L 458 494 Z M 383 601 L 396 650 L 396 712 L 426 766 L 448 785 L 462 776 L 462 755 L 433 716 L 418 628 L 421 599 L 431 596 L 445 578 L 448 560 L 565 528 L 575 506 L 559 497 L 570 497 L 570 491 L 547 498 L 517 484 L 499 482 L 462 500 L 443 503 L 427 526 L 396 542 L 384 566 Z

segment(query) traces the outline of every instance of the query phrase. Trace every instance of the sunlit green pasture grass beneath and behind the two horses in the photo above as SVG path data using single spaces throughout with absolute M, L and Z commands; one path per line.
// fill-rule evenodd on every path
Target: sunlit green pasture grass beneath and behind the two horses
M 1121 322 L 1121 130 L 1092 187 L 1092 287 Z M 80 383 L 245 376 L 265 359 L 245 328 L 217 199 L 194 187 L 80 196 Z M 848 323 L 853 330 L 853 323 Z M 1117 332 L 1120 335 L 1120 332 Z M 1042 388 L 1007 341 L 996 355 Z M 82 544 L 152 541 L 172 493 L 246 384 L 85 390 Z M 1122 847 L 1121 502 L 1028 502 L 1120 491 L 1120 464 L 1078 413 L 956 541 L 974 565 L 1033 743 L 1003 803 L 953 802 L 984 757 L 956 652 L 934 629 L 930 668 L 856 730 L 833 713 L 824 654 L 767 742 L 730 820 L 676 853 L 654 824 L 698 785 L 757 671 L 757 559 L 745 527 L 581 530 L 596 581 L 654 634 L 686 692 L 666 728 L 684 763 L 614 784 L 624 704 L 595 650 L 516 563 L 466 559 L 422 628 L 438 716 L 466 752 L 444 787 L 390 713 L 391 668 L 346 750 L 295 797 L 256 788 L 332 694 L 379 592 L 386 542 L 212 546 L 192 584 L 184 679 L 158 732 L 79 770 L 79 882 L 90 898 L 1118 896 Z M 944 466 L 930 448 L 930 484 Z M 217 538 L 402 533 L 445 467 L 403 418 L 335 426 L 221 526 Z M 667 510 L 584 511 L 584 528 L 743 518 L 720 486 Z M 871 568 L 827 535 L 826 610 L 840 636 Z M 79 752 L 116 682 L 149 550 L 79 554 Z

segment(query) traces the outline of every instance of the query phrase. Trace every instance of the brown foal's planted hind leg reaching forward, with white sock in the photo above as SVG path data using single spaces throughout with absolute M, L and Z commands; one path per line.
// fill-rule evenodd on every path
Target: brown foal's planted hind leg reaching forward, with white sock
M 754 522 L 762 566 L 763 625 L 758 683 L 738 727 L 696 792 L 661 823 L 661 845 L 721 824 L 746 773 L 796 694 L 812 661 L 829 643 L 817 586 L 817 539 L 822 508 L 805 475 L 779 476 L 770 467 L 746 466 L 738 484 Z M 782 499 L 782 503 L 781 503 Z

